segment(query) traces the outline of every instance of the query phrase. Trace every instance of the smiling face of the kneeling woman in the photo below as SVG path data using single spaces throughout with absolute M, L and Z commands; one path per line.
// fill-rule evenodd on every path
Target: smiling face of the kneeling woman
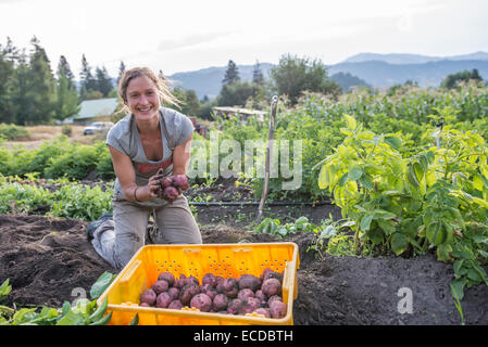
M 149 120 L 158 117 L 158 110 L 161 106 L 158 87 L 143 75 L 130 79 L 127 85 L 125 104 L 136 119 Z

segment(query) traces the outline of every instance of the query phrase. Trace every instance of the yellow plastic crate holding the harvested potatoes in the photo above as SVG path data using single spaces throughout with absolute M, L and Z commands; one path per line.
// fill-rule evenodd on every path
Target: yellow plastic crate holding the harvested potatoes
M 293 300 L 298 295 L 298 246 L 295 243 L 241 243 L 204 245 L 147 245 L 141 247 L 112 284 L 99 297 L 100 305 L 109 296 L 110 324 L 127 325 L 139 313 L 140 325 L 292 325 Z M 205 273 L 223 278 L 239 278 L 243 273 L 260 277 L 264 269 L 285 271 L 283 301 L 287 314 L 281 319 L 264 318 L 255 313 L 246 316 L 200 312 L 193 308 L 183 310 L 140 307 L 140 294 L 152 286 L 158 274 L 172 272 L 193 275 L 200 283 Z

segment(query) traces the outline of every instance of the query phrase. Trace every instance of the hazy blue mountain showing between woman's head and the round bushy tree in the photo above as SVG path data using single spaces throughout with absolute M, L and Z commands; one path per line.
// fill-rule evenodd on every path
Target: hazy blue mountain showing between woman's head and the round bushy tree
M 237 67 L 241 80 L 252 80 L 254 65 L 238 65 Z M 272 67 L 273 64 L 260 63 L 260 69 L 265 78 L 267 78 Z M 221 92 L 222 80 L 226 69 L 227 66 L 208 67 L 196 72 L 176 73 L 167 77 L 173 81 L 173 87 L 193 89 L 199 99 L 202 99 L 204 95 L 209 97 L 209 99 L 214 99 Z

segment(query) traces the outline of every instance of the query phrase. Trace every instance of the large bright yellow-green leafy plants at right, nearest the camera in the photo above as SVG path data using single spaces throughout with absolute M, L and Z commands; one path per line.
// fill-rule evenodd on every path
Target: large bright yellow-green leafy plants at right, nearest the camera
M 399 138 L 377 136 L 351 116 L 345 119 L 347 138 L 317 165 L 318 187 L 353 221 L 355 250 L 436 252 L 439 260 L 454 261 L 452 290 L 459 299 L 465 285 L 488 285 L 479 266 L 488 260 L 486 141 L 448 126 L 437 134 L 441 147 L 406 158 Z

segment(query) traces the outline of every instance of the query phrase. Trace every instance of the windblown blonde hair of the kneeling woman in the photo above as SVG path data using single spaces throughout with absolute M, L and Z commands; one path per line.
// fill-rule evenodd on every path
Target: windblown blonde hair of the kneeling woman
M 140 76 L 146 76 L 152 80 L 160 97 L 161 104 L 171 104 L 179 107 L 180 101 L 171 92 L 170 80 L 162 73 L 160 73 L 160 76 L 157 76 L 148 67 L 134 67 L 124 72 L 118 82 L 118 95 L 124 101 L 124 108 L 122 111 L 129 113 L 129 108 L 125 105 L 127 103 L 127 87 L 130 80 Z

